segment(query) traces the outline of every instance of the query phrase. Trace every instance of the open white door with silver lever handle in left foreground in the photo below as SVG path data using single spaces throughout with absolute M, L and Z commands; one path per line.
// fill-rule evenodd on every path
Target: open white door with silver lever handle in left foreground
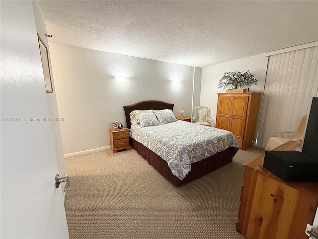
M 0 11 L 0 238 L 69 238 L 32 2 Z

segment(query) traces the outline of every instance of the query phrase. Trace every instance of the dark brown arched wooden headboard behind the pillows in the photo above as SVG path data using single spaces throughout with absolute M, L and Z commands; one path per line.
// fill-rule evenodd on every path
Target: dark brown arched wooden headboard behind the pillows
M 162 101 L 141 101 L 129 106 L 124 106 L 127 128 L 131 127 L 129 114 L 134 110 L 164 110 L 169 109 L 173 111 L 174 104 Z

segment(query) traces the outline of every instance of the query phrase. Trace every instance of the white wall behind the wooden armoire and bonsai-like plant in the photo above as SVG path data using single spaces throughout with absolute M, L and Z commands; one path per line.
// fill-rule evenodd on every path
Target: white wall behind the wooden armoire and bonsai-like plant
M 226 90 L 218 88 L 220 79 L 227 71 L 244 71 L 249 69 L 251 69 L 251 73 L 258 80 L 257 85 L 249 86 L 250 91 L 263 92 L 267 69 L 267 57 L 265 53 L 202 68 L 200 105 L 211 108 L 211 118 L 214 122 L 216 120 L 218 105 L 217 93 L 226 92 Z

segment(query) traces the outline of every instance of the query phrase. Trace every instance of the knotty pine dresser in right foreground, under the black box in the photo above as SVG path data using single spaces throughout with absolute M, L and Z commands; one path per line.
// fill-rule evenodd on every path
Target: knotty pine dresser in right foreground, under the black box
M 288 141 L 275 150 L 294 150 Z M 287 183 L 263 168 L 264 154 L 244 164 L 237 231 L 246 239 L 308 239 L 314 221 L 318 183 Z

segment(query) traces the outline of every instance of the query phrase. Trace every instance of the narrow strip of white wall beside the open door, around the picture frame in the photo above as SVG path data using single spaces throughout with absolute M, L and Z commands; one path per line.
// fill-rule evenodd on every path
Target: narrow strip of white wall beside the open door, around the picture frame
M 41 37 L 42 41 L 48 48 L 49 53 L 49 64 L 50 69 L 52 71 L 52 65 L 50 60 L 50 49 L 48 40 L 45 37 L 46 33 L 46 25 L 45 25 L 45 19 L 43 16 L 43 13 L 41 11 L 41 8 L 37 1 L 32 1 L 33 5 L 33 12 L 34 12 L 34 18 L 35 18 L 35 24 L 36 24 L 36 31 Z M 50 118 L 59 118 L 58 113 L 58 107 L 56 103 L 56 95 L 55 95 L 55 88 L 54 88 L 54 77 L 51 72 L 51 80 L 52 80 L 52 86 L 53 86 L 53 93 L 46 93 L 47 99 L 48 99 L 48 105 L 49 105 L 49 111 L 50 111 Z M 66 169 L 65 169 L 65 162 L 64 162 L 64 154 L 63 154 L 63 145 L 62 145 L 62 136 L 61 136 L 61 129 L 60 129 L 60 122 L 59 121 L 51 121 L 52 124 L 52 131 L 53 131 L 53 137 L 54 137 L 54 144 L 55 144 L 55 151 L 57 156 L 57 162 L 59 167 L 59 175 L 61 177 L 66 176 Z M 64 185 L 65 183 L 63 183 Z M 63 187 L 61 187 L 63 191 Z M 64 193 L 64 191 L 63 191 Z

